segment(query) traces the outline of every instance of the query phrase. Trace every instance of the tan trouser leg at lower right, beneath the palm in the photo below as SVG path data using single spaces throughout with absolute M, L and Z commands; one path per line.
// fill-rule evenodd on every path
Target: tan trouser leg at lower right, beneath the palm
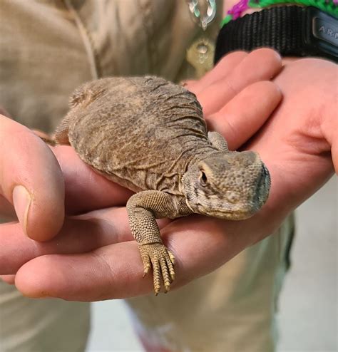
M 275 351 L 293 227 L 289 217 L 275 234 L 178 291 L 128 300 L 147 350 Z

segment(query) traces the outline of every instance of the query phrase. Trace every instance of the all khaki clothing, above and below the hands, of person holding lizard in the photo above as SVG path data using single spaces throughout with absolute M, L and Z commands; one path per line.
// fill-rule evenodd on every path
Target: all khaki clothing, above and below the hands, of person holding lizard
M 73 89 L 93 78 L 192 77 L 185 53 L 202 35 L 185 0 L 1 0 L 0 33 L 0 106 L 46 132 L 65 115 Z M 128 300 L 138 332 L 172 351 L 273 351 L 291 227 L 290 218 L 183 289 Z M 0 314 L 1 352 L 82 351 L 86 343 L 88 304 L 26 299 L 0 284 Z

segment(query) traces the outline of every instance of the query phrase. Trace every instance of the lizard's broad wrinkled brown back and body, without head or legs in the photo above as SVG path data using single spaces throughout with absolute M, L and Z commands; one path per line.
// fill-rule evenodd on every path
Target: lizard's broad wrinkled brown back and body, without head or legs
M 68 127 L 73 148 L 95 170 L 135 192 L 181 195 L 189 162 L 215 152 L 195 95 L 163 78 L 103 78 L 86 83 L 73 100 L 82 101 Z

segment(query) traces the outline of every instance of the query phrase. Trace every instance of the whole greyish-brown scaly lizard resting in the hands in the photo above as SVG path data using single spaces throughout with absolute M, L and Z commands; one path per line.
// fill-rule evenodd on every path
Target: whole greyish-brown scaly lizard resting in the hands
M 230 152 L 208 133 L 193 93 L 163 78 L 104 78 L 71 97 L 71 110 L 53 141 L 70 144 L 109 180 L 133 190 L 127 202 L 144 274 L 154 290 L 175 278 L 175 257 L 155 219 L 198 213 L 246 219 L 267 200 L 270 176 L 255 152 Z

